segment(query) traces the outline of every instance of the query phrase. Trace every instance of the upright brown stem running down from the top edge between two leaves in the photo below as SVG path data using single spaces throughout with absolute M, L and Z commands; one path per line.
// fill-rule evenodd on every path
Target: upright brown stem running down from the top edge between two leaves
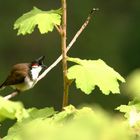
M 62 34 L 61 34 L 61 46 L 62 46 L 62 65 L 63 65 L 63 104 L 62 107 L 68 105 L 68 91 L 69 82 L 67 79 L 67 44 L 66 44 L 66 34 L 67 34 L 67 5 L 66 0 L 61 0 L 62 3 Z

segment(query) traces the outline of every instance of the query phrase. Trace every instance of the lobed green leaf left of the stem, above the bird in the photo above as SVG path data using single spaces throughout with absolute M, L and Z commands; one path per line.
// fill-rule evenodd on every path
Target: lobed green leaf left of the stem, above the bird
M 14 24 L 14 29 L 18 29 L 18 35 L 31 34 L 37 26 L 40 33 L 48 33 L 54 29 L 55 25 L 61 23 L 61 9 L 42 11 L 34 7 L 30 12 L 23 14 Z

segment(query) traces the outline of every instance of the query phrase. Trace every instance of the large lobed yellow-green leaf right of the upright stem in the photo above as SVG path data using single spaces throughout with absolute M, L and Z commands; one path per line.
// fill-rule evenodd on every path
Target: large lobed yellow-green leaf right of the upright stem
M 106 95 L 120 93 L 118 80 L 125 82 L 124 78 L 103 60 L 68 58 L 68 61 L 77 63 L 68 69 L 68 79 L 75 79 L 76 87 L 86 94 L 90 94 L 95 86 Z

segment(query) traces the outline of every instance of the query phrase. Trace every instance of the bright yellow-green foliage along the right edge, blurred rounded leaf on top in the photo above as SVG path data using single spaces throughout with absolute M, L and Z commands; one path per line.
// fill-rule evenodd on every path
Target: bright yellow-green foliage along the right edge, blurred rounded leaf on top
M 124 85 L 124 91 L 132 98 L 132 101 L 128 105 L 120 105 L 116 108 L 120 112 L 124 113 L 126 121 L 129 123 L 134 134 L 140 137 L 140 95 L 139 95 L 139 81 L 140 71 L 139 69 L 132 72 L 126 79 L 126 85 Z

